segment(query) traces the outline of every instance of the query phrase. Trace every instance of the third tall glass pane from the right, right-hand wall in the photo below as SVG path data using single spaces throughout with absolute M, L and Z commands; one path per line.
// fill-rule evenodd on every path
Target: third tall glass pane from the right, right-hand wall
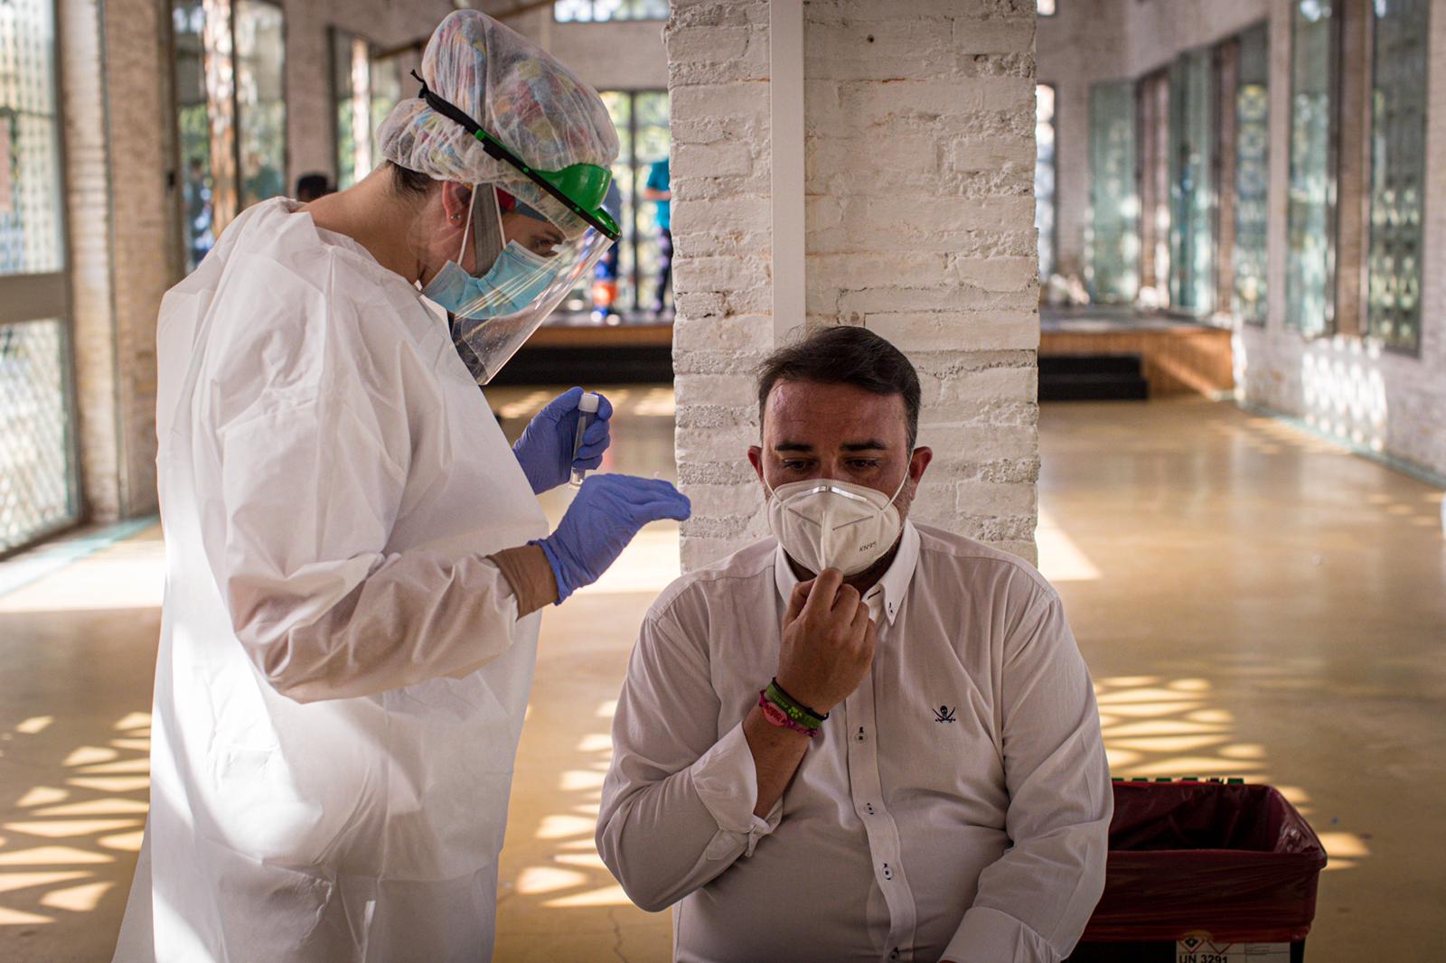
M 1235 87 L 1235 314 L 1265 324 L 1270 213 L 1270 32 L 1241 35 Z

